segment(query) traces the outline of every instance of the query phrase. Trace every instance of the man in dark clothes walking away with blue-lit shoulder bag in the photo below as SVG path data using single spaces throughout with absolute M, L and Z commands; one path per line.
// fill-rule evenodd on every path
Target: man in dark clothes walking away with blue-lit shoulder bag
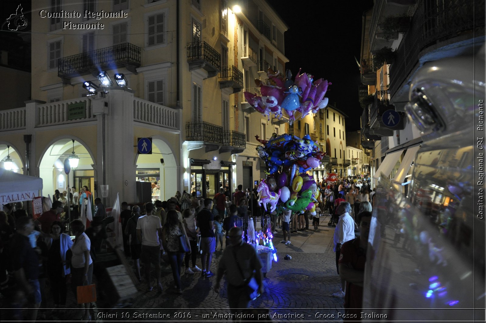
M 226 273 L 228 304 L 231 312 L 236 314 L 237 309 L 248 308 L 250 301 L 263 293 L 263 275 L 257 252 L 243 242 L 242 229 L 233 227 L 228 236 L 231 244 L 223 252 L 213 289 L 219 292 L 221 279 Z

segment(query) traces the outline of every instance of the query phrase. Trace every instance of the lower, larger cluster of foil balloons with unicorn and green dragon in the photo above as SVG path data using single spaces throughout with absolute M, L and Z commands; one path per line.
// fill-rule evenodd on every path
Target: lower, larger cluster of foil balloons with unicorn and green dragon
M 268 142 L 257 147 L 258 154 L 265 161 L 267 178 L 260 182 L 257 191 L 259 204 L 270 212 L 284 208 L 303 213 L 310 210 L 315 215 L 314 202 L 320 191 L 312 176 L 305 172 L 318 167 L 324 153 L 309 135 L 302 139 L 283 134 L 272 136 Z

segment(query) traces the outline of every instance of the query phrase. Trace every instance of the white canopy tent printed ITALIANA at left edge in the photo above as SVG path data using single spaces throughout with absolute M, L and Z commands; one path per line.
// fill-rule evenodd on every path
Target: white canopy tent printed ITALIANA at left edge
M 34 176 L 17 174 L 0 168 L 0 203 L 28 201 L 39 197 L 42 179 Z

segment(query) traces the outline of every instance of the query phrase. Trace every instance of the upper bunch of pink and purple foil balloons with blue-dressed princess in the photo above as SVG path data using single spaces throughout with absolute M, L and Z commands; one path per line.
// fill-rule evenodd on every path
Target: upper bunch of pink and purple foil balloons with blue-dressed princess
M 319 109 L 326 108 L 329 99 L 324 95 L 331 83 L 322 78 L 314 81 L 312 75 L 305 72 L 300 74 L 300 71 L 295 76 L 295 81 L 292 81 L 289 70 L 283 75 L 280 71 L 274 72 L 269 68 L 266 83 L 255 79 L 260 95 L 244 92 L 246 101 L 268 119 L 272 113 L 275 118 L 280 119 L 284 109 L 289 114 L 290 124 L 295 121 L 295 111 L 299 111 L 301 118 L 304 118 L 311 111 L 317 113 Z

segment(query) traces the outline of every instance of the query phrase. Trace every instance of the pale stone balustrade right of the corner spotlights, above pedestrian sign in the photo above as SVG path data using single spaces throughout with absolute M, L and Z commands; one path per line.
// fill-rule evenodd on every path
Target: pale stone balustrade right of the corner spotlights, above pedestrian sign
M 162 126 L 171 129 L 179 129 L 179 112 L 150 101 L 134 98 L 133 120 L 149 125 Z

